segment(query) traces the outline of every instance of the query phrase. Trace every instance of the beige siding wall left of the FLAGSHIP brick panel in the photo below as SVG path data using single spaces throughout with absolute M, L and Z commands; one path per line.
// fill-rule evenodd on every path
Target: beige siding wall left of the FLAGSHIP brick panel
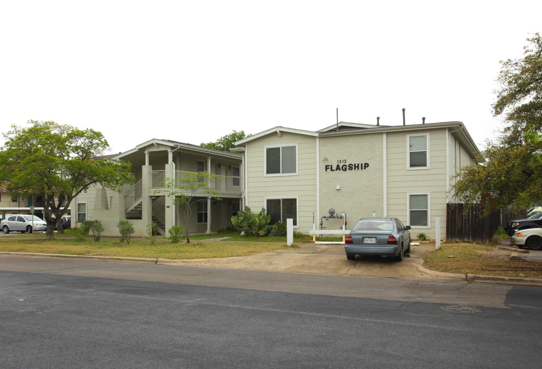
M 247 144 L 247 206 L 258 212 L 266 206 L 266 198 L 298 198 L 299 231 L 312 229 L 312 213 L 317 199 L 316 185 L 316 141 L 317 138 L 281 132 Z M 298 174 L 293 176 L 264 176 L 264 150 L 266 146 L 298 145 Z

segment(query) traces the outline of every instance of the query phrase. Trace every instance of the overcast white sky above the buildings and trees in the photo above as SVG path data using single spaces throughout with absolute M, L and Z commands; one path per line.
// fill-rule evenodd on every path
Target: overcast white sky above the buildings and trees
M 479 148 L 500 60 L 542 2 L 3 1 L 0 128 L 54 120 L 111 152 L 339 120 L 460 120 Z M 1 141 L 3 143 L 3 139 Z

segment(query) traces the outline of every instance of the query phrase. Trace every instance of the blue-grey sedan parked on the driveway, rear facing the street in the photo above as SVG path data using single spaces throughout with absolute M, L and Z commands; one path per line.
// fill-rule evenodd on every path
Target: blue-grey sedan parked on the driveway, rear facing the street
M 410 253 L 409 229 L 410 226 L 404 226 L 395 217 L 362 218 L 346 236 L 346 258 L 353 260 L 356 255 L 384 255 L 402 261 L 403 254 Z

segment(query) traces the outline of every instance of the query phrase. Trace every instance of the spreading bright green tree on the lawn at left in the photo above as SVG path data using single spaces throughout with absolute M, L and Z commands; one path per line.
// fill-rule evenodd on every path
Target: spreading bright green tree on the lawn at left
M 133 182 L 130 163 L 99 156 L 108 149 L 100 132 L 29 121 L 29 127 L 11 126 L 0 147 L 0 183 L 12 194 L 41 197 L 47 238 L 62 226 L 73 197 L 93 184 L 120 189 Z

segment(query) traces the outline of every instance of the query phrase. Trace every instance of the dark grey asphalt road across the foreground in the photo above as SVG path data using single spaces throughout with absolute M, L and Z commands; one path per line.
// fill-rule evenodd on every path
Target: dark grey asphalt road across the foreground
M 0 368 L 539 368 L 542 289 L 0 256 Z

